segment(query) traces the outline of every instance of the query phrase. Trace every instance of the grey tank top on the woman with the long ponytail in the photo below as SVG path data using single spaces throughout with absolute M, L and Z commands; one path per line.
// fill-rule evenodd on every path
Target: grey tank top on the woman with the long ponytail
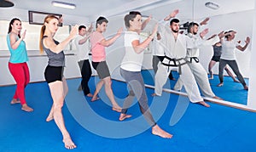
M 44 36 L 43 39 L 45 37 L 46 36 Z M 63 51 L 61 51 L 60 53 L 55 53 L 55 52 L 52 52 L 49 48 L 45 48 L 43 39 L 42 39 L 43 49 L 44 49 L 44 52 L 47 54 L 47 56 L 49 58 L 48 65 L 50 65 L 50 66 L 64 66 L 65 65 L 65 55 L 64 55 Z M 59 42 L 55 41 L 55 44 L 58 45 Z

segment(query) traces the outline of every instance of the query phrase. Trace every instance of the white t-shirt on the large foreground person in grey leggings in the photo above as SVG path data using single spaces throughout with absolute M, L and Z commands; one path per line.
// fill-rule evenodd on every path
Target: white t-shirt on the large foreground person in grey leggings
M 141 71 L 144 53 L 136 53 L 131 44 L 131 42 L 135 40 L 140 40 L 139 35 L 137 34 L 137 32 L 125 31 L 124 40 L 125 56 L 122 60 L 120 68 L 129 71 Z

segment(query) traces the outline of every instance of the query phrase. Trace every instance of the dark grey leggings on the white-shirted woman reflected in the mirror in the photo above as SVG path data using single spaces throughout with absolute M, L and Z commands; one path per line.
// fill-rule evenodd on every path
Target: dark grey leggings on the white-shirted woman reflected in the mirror
M 244 81 L 243 77 L 241 76 L 241 73 L 238 69 L 238 65 L 236 63 L 236 60 L 227 60 L 227 59 L 219 59 L 219 65 L 218 65 L 218 78 L 219 81 L 222 83 L 223 82 L 223 71 L 224 67 L 226 65 L 230 65 L 230 68 L 234 71 L 236 74 L 239 82 L 241 82 L 242 86 L 246 86 L 247 83 Z

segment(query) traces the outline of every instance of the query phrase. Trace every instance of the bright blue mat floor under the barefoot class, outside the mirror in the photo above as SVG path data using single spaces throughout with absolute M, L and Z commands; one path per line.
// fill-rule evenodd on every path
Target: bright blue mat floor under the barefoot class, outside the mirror
M 92 92 L 97 81 L 98 77 L 91 77 Z M 69 93 L 63 107 L 67 130 L 78 146 L 72 151 L 256 151 L 255 113 L 212 103 L 211 108 L 205 108 L 170 93 L 152 98 L 154 90 L 147 88 L 155 120 L 173 134 L 173 138 L 165 139 L 152 135 L 136 101 L 128 111 L 132 118 L 120 122 L 119 113 L 108 105 L 104 89 L 99 93 L 101 100 L 90 102 L 77 91 L 79 82 L 80 79 L 67 81 Z M 52 104 L 47 83 L 30 83 L 26 87 L 32 113 L 20 110 L 20 104 L 9 104 L 14 92 L 15 86 L 0 87 L 0 151 L 67 151 L 55 122 L 45 121 Z M 113 93 L 122 105 L 126 84 L 113 81 Z

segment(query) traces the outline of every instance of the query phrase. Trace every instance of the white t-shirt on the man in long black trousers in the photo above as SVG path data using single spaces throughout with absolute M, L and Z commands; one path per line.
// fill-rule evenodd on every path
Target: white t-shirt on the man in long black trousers
M 78 37 L 75 38 L 75 41 L 74 41 L 76 48 L 77 48 L 78 61 L 84 60 L 84 59 L 89 59 L 89 52 L 90 52 L 89 40 L 87 39 L 87 41 L 84 42 L 84 44 L 79 44 L 79 41 L 83 38 L 84 37 L 79 35 Z

